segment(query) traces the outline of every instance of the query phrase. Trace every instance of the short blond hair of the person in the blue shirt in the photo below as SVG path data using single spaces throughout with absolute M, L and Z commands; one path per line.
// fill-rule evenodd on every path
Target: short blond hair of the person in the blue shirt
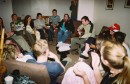
M 48 49 L 48 43 L 46 40 L 37 40 L 33 46 L 33 52 L 38 57 L 40 55 L 45 55 L 45 51 Z

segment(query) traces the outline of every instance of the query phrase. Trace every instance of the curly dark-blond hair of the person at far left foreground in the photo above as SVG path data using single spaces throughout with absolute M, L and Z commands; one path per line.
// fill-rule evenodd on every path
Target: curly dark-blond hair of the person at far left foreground
M 15 59 L 16 55 L 16 47 L 12 44 L 5 44 L 4 49 L 3 49 L 3 55 L 2 59 L 3 60 L 10 60 L 10 59 Z

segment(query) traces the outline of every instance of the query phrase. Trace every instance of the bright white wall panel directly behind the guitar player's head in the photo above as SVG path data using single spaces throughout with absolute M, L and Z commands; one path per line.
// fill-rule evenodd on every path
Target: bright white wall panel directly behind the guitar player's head
M 88 16 L 93 22 L 94 0 L 79 0 L 78 4 L 78 20 L 83 16 Z

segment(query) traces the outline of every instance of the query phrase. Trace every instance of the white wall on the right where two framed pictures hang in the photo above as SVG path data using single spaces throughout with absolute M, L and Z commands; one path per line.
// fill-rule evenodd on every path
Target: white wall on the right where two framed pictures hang
M 98 34 L 103 25 L 118 23 L 130 44 L 130 8 L 124 8 L 124 3 L 125 0 L 115 0 L 113 10 L 105 10 L 106 0 L 95 0 L 94 26 Z

